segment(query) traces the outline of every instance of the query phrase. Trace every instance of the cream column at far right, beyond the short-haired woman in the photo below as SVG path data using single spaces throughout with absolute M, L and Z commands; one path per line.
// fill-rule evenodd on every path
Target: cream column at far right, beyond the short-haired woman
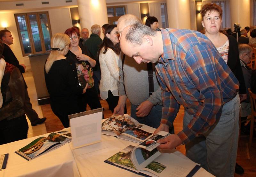
M 241 29 L 250 26 L 250 0 L 230 1 L 231 29 L 234 31 L 234 24 L 239 23 Z

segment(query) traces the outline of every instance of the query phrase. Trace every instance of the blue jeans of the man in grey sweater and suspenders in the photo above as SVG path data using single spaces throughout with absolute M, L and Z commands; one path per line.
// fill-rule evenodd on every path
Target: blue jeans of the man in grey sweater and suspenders
M 137 117 L 136 116 L 136 109 L 138 108 L 139 104 L 132 104 L 131 103 L 131 116 L 132 118 L 136 119 L 140 124 L 145 124 L 150 127 L 158 128 L 160 125 L 160 121 L 162 118 L 162 108 L 163 105 L 156 104 L 150 110 L 148 116 L 145 117 Z

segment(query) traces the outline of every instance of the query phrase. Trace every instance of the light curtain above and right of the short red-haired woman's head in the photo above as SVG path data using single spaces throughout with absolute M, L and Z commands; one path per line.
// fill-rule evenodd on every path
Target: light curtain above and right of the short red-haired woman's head
M 214 3 L 222 8 L 222 24 L 221 28 L 231 28 L 231 17 L 230 17 L 230 0 L 206 0 L 204 4 Z M 204 5 L 203 4 L 203 5 Z

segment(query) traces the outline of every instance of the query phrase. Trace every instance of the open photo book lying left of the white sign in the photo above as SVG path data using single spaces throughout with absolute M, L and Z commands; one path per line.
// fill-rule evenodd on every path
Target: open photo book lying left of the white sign
M 47 138 L 36 138 L 25 147 L 22 147 L 18 151 L 15 151 L 15 153 L 17 153 L 26 160 L 31 160 L 71 140 L 71 132 L 64 130 L 55 131 L 49 134 Z

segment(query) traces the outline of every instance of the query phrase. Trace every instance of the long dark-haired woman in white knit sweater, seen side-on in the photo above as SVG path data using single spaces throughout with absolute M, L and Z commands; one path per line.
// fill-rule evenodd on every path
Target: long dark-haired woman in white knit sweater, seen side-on
M 117 82 L 119 81 L 119 53 L 119 33 L 117 32 L 116 25 L 109 25 L 99 49 L 101 70 L 100 97 L 108 102 L 109 110 L 112 113 L 119 98 L 117 89 Z

